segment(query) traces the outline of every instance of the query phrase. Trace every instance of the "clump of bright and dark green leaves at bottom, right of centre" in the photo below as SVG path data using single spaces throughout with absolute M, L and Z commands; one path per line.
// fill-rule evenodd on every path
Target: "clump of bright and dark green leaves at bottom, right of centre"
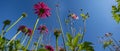
M 91 42 L 79 43 L 82 38 L 82 34 L 78 33 L 75 37 L 72 37 L 70 33 L 67 33 L 66 45 L 69 46 L 70 50 L 79 48 L 78 50 L 94 51 Z

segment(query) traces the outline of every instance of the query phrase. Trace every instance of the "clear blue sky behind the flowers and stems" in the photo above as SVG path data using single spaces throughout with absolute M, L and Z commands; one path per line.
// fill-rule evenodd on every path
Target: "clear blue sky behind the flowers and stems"
M 5 37 L 11 39 L 16 33 L 17 28 L 20 25 L 26 25 L 27 27 L 33 28 L 34 23 L 37 19 L 37 15 L 34 14 L 33 5 L 38 2 L 45 2 L 51 8 L 52 15 L 47 19 L 41 19 L 39 25 L 45 24 L 49 30 L 59 28 L 55 13 L 55 4 L 58 0 L 0 0 L 0 27 L 3 26 L 2 22 L 6 19 L 16 21 L 22 14 L 26 12 L 28 16 L 23 18 L 18 24 L 16 24 L 9 32 L 6 33 Z M 119 40 L 120 24 L 117 24 L 112 18 L 111 6 L 116 5 L 114 0 L 59 0 L 60 1 L 60 18 L 63 25 L 64 33 L 66 33 L 67 26 L 65 25 L 64 19 L 68 16 L 68 10 L 76 13 L 80 17 L 80 9 L 83 8 L 84 12 L 89 12 L 90 18 L 87 20 L 87 32 L 85 40 L 93 42 L 95 51 L 104 51 L 102 44 L 98 42 L 98 36 L 103 36 L 106 32 L 113 33 L 113 37 Z M 82 19 L 76 21 L 75 27 L 83 26 Z M 2 28 L 0 28 L 1 30 Z M 53 32 L 50 31 L 53 36 Z M 38 31 L 36 31 L 34 39 Z M 19 35 L 21 36 L 21 35 Z M 37 36 L 38 37 L 38 36 Z M 35 41 L 33 39 L 33 41 Z M 54 36 L 51 38 L 54 39 Z M 61 38 L 60 38 L 61 40 Z M 52 40 L 53 42 L 55 40 Z M 61 45 L 61 41 L 59 43 Z M 106 49 L 107 51 L 108 49 Z

